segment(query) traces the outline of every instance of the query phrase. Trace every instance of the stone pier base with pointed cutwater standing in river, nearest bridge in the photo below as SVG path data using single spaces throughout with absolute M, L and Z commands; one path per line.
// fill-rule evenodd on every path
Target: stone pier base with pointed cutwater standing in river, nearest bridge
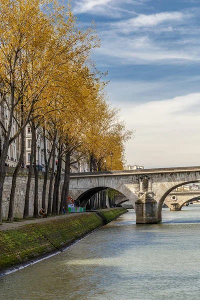
M 157 223 L 157 202 L 147 192 L 135 201 L 136 224 Z

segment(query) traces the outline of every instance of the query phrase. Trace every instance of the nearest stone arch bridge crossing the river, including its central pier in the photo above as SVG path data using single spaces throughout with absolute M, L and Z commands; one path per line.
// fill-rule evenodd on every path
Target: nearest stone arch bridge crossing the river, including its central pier
M 71 173 L 69 195 L 84 207 L 96 192 L 113 188 L 133 205 L 136 223 L 156 223 L 166 196 L 192 182 L 200 182 L 200 166 Z

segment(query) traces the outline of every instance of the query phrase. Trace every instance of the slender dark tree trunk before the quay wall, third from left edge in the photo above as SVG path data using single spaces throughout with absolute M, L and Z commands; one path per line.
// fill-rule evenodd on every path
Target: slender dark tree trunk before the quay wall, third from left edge
M 30 193 L 30 182 L 32 177 L 32 162 L 33 162 L 33 152 L 34 152 L 34 127 L 31 125 L 30 127 L 31 127 L 31 150 L 30 150 L 30 162 L 29 162 L 29 169 L 28 169 L 28 179 L 27 179 L 26 190 L 25 190 L 25 203 L 24 203 L 24 210 L 23 210 L 24 219 L 28 218 L 29 216 L 29 193 Z

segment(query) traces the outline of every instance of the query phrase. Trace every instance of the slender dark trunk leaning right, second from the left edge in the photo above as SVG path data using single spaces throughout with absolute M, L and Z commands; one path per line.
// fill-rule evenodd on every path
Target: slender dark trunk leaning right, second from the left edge
M 21 152 L 19 156 L 19 160 L 17 162 L 17 165 L 15 167 L 13 176 L 12 176 L 12 186 L 10 191 L 10 199 L 9 199 L 9 211 L 8 211 L 8 221 L 13 221 L 13 210 L 14 210 L 14 194 L 15 194 L 15 188 L 16 188 L 16 179 L 18 175 L 19 168 L 23 162 L 23 154 L 24 154 L 24 148 L 25 148 L 25 136 L 24 136 L 24 129 L 21 131 Z

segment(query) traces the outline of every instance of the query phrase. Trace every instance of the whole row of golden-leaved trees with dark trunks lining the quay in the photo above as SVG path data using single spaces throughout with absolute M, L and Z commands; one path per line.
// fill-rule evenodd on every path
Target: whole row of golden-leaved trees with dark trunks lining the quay
M 0 221 L 5 159 L 8 147 L 20 136 L 21 152 L 12 178 L 8 220 L 13 220 L 16 178 L 24 156 L 24 129 L 31 127 L 31 154 L 23 217 L 29 215 L 29 190 L 34 173 L 34 217 L 38 216 L 36 143 L 38 128 L 43 132 L 45 173 L 42 207 L 57 214 L 67 207 L 71 153 L 85 157 L 93 170 L 101 170 L 104 157 L 114 151 L 112 167 L 121 169 L 124 141 L 131 132 L 108 105 L 106 83 L 91 60 L 100 41 L 94 25 L 84 29 L 70 6 L 56 0 L 0 0 L 0 104 L 8 109 L 8 126 L 0 120 L 3 145 L 0 153 Z M 13 120 L 17 131 L 11 134 Z M 46 139 L 51 143 L 47 154 Z M 53 179 L 55 151 L 58 152 Z M 59 201 L 61 161 L 64 183 Z M 52 164 L 50 188 L 47 171 Z M 94 165 L 94 164 L 93 164 Z M 33 169 L 32 169 L 33 168 Z M 54 180 L 54 183 L 53 183 Z M 54 185 L 53 185 L 54 184 Z M 52 188 L 53 186 L 53 188 Z M 48 205 L 45 197 L 48 192 Z

